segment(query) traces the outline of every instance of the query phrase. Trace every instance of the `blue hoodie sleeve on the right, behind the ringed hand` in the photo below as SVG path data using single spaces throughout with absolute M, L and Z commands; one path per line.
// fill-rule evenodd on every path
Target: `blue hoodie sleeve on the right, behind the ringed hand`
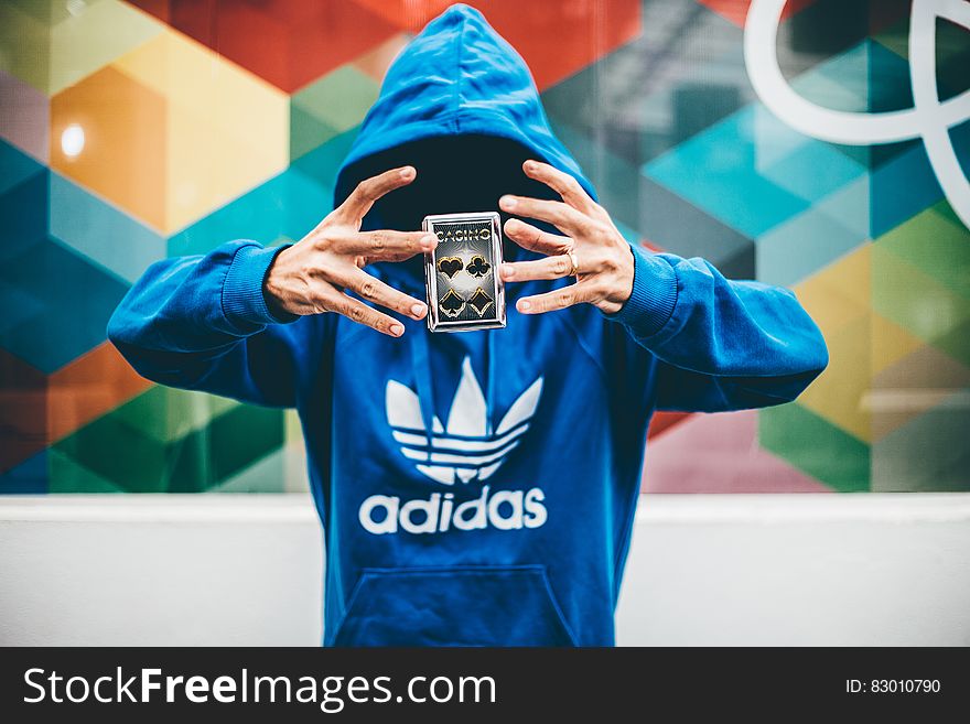
M 633 293 L 606 316 L 659 359 L 658 409 L 789 402 L 828 365 L 821 332 L 787 289 L 730 281 L 700 258 L 632 248 Z

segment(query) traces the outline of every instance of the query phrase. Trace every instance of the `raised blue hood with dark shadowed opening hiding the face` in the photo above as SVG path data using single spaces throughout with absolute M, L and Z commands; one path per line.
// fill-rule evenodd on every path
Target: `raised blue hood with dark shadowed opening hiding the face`
M 337 175 L 334 206 L 364 179 L 405 164 L 418 170 L 417 180 L 375 204 L 364 229 L 416 230 L 429 214 L 497 212 L 506 193 L 557 198 L 522 173 L 530 158 L 573 175 L 594 195 L 552 133 L 525 61 L 481 12 L 456 4 L 388 69 Z M 526 256 L 508 242 L 505 253 Z M 392 266 L 421 273 L 420 260 L 411 262 Z

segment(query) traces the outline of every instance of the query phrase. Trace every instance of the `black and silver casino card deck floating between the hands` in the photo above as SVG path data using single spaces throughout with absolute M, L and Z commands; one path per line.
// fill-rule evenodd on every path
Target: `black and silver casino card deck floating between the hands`
M 424 255 L 428 285 L 428 328 L 467 332 L 505 326 L 502 228 L 498 214 L 425 216 L 422 230 L 438 237 Z

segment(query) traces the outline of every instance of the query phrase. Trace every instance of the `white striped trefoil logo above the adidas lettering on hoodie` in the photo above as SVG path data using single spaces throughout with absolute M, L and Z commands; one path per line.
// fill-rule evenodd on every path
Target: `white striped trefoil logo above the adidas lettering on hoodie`
M 405 457 L 414 461 L 414 466 L 431 479 L 444 485 L 454 485 L 455 478 L 462 483 L 485 480 L 518 446 L 536 414 L 541 392 L 540 377 L 519 395 L 493 431 L 485 396 L 471 359 L 465 357 L 446 425 L 435 417 L 429 437 L 418 396 L 392 379 L 387 382 L 387 422 Z

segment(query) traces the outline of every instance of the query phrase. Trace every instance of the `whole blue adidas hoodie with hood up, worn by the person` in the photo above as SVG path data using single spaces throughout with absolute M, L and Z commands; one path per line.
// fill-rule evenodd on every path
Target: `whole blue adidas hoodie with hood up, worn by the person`
M 418 180 L 365 227 L 413 230 L 425 214 L 497 209 L 506 192 L 552 197 L 526 158 L 594 194 L 521 58 L 456 6 L 391 66 L 335 204 L 401 162 Z M 787 402 L 828 361 L 789 291 L 702 259 L 633 249 L 614 315 L 520 315 L 518 296 L 569 283 L 529 282 L 508 287 L 505 329 L 401 318 L 391 338 L 335 314 L 274 316 L 262 281 L 278 251 L 233 241 L 155 263 L 108 334 L 149 379 L 298 409 L 325 531 L 325 645 L 613 645 L 654 410 Z M 423 293 L 420 259 L 368 271 Z

